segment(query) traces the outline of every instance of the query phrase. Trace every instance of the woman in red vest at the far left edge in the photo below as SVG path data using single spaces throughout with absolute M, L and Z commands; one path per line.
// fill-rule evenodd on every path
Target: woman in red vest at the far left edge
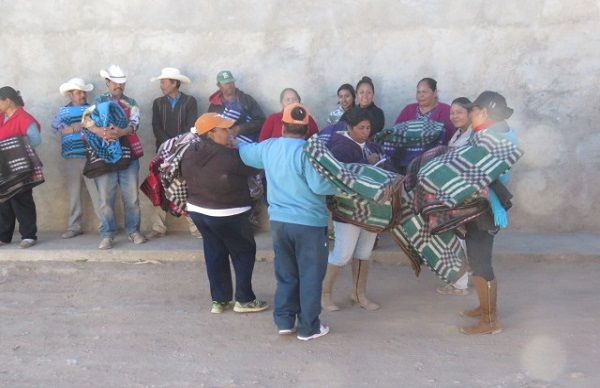
M 0 141 L 26 137 L 32 147 L 42 142 L 40 124 L 23 109 L 25 103 L 19 92 L 10 86 L 0 88 Z M 4 170 L 5 166 L 1 166 Z M 37 242 L 37 214 L 33 191 L 25 189 L 0 203 L 0 246 L 10 244 L 19 221 L 21 243 L 19 248 L 29 248 Z

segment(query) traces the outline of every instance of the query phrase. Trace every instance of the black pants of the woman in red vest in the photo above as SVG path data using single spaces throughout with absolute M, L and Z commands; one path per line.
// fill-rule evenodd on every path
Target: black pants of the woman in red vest
M 19 221 L 21 239 L 37 240 L 37 216 L 31 189 L 0 203 L 0 241 L 5 243 L 12 241 L 15 220 Z

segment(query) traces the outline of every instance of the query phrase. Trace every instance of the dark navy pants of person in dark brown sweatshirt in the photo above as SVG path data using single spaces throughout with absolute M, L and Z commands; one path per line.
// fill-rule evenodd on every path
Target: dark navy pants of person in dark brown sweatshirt
M 233 300 L 229 257 L 235 270 L 235 300 L 247 303 L 256 299 L 252 291 L 256 242 L 248 219 L 249 212 L 228 217 L 212 217 L 195 212 L 189 215 L 202 233 L 212 300 Z

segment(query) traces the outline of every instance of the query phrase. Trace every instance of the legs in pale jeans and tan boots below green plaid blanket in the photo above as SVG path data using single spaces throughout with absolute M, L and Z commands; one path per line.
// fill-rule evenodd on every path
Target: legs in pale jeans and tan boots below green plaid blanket
M 329 254 L 327 273 L 323 281 L 321 305 L 327 311 L 337 311 L 331 293 L 333 284 L 342 267 L 352 259 L 352 279 L 354 291 L 352 300 L 367 310 L 377 310 L 380 306 L 369 301 L 366 296 L 369 258 L 373 252 L 373 245 L 377 233 L 369 232 L 360 227 L 344 222 L 334 221 L 335 245 Z

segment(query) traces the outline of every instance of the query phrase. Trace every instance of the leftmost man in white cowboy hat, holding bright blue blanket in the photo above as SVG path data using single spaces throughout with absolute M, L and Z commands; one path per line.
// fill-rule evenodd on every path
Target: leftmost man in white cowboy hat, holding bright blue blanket
M 94 85 L 85 83 L 81 78 L 71 78 L 60 85 L 60 93 L 69 98 L 69 103 L 61 107 L 52 128 L 61 135 L 61 154 L 64 158 L 63 171 L 67 178 L 69 194 L 69 220 L 67 230 L 62 238 L 71 238 L 83 233 L 81 225 L 81 182 L 90 195 L 94 212 L 98 201 L 98 192 L 93 179 L 83 175 L 85 166 L 85 146 L 81 140 L 81 114 L 89 106 L 87 92 L 94 90 Z M 96 212 L 96 214 L 98 214 Z

